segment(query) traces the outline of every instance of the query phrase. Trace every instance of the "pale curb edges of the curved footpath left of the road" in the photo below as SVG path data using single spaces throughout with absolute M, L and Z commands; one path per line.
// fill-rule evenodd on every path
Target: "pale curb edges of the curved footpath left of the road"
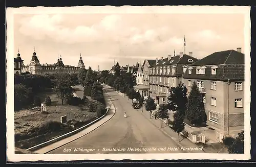
M 109 100 L 110 100 L 109 94 L 106 93 L 106 95 L 108 96 L 108 98 L 109 98 Z M 112 103 L 111 100 L 110 100 L 110 102 L 111 102 L 111 104 L 113 105 L 113 103 Z M 113 105 L 113 106 L 114 106 L 114 105 Z M 71 132 L 69 132 L 69 133 L 63 134 L 63 135 L 61 135 L 61 136 L 58 136 L 58 137 L 56 137 L 56 138 L 53 138 L 53 139 L 48 140 L 48 141 L 46 141 L 46 142 L 43 142 L 43 143 L 41 143 L 41 144 L 39 144 L 39 145 L 33 146 L 33 147 L 29 148 L 29 149 L 26 149 L 26 151 L 35 151 L 35 150 L 38 150 L 38 149 L 40 149 L 40 148 L 49 146 L 49 145 L 53 144 L 54 142 L 57 142 L 57 141 L 60 141 L 60 140 L 62 140 L 62 139 L 64 139 L 64 138 L 70 137 L 70 136 L 72 136 L 72 135 L 74 135 L 74 134 L 76 134 L 76 133 L 78 133 L 78 132 L 80 132 L 80 131 L 82 131 L 82 130 L 88 128 L 89 126 L 93 125 L 94 123 L 100 121 L 100 120 L 101 120 L 106 114 L 108 114 L 108 113 L 109 113 L 109 109 L 106 110 L 106 112 L 105 112 L 104 115 L 102 115 L 101 117 L 99 117 L 99 118 L 97 118 L 96 120 L 92 121 L 91 123 L 89 123 L 89 124 L 87 124 L 87 125 L 84 125 L 84 126 L 78 128 L 78 129 L 74 130 L 74 131 L 71 131 Z M 114 113 L 113 113 L 113 115 L 109 118 L 109 120 L 111 120 L 111 118 L 115 115 L 115 113 L 116 113 L 116 108 L 115 108 L 115 106 L 114 106 Z M 101 125 L 99 125 L 97 128 L 99 128 L 100 126 L 102 126 L 103 124 L 105 124 L 106 122 L 108 122 L 109 120 L 106 120 L 104 123 L 102 123 Z M 95 129 L 97 129 L 97 128 L 95 128 Z M 92 131 L 94 131 L 95 129 L 93 129 Z M 90 131 L 90 132 L 92 132 L 92 131 Z M 84 135 L 82 135 L 82 136 L 80 136 L 80 137 L 83 137 L 83 136 L 89 134 L 90 132 L 88 132 L 88 133 L 86 133 L 86 134 L 84 134 Z M 80 138 L 80 137 L 78 137 L 78 138 Z M 76 139 L 78 139 L 78 138 L 76 138 Z M 72 141 L 74 141 L 74 140 L 76 140 L 76 139 L 73 139 Z M 59 146 L 59 147 L 62 147 L 62 146 L 64 146 L 64 145 L 67 145 L 67 144 L 69 144 L 69 143 L 72 142 L 72 141 L 69 141 L 69 142 L 67 142 L 67 143 L 65 143 L 65 144 L 63 144 L 63 145 L 61 145 L 61 146 Z M 57 147 L 57 148 L 59 148 L 59 147 Z M 50 150 L 50 151 L 53 151 L 53 150 L 55 150 L 55 149 L 57 149 L 57 148 L 54 148 L 54 149 L 52 149 L 52 150 Z M 50 151 L 48 151 L 48 152 L 50 152 Z M 48 153 L 48 152 L 47 152 L 47 153 Z M 46 153 L 44 153 L 44 154 L 46 154 Z

